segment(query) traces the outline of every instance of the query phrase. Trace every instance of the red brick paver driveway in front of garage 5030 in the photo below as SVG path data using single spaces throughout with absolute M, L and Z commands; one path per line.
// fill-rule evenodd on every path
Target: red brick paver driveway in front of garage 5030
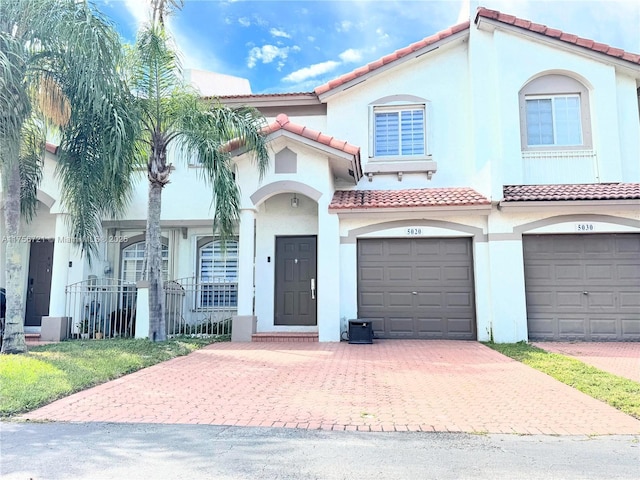
M 536 342 L 547 352 L 577 358 L 605 372 L 640 383 L 640 343 L 637 342 Z

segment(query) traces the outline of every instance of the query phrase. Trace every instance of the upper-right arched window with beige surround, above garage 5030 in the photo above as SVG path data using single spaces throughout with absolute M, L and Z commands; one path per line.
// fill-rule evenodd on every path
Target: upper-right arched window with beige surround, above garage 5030
M 589 91 L 566 75 L 544 75 L 520 91 L 523 150 L 591 149 Z

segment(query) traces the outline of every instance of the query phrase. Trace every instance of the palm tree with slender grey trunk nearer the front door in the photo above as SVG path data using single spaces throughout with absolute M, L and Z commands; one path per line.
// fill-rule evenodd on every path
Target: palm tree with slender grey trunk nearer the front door
M 146 277 L 149 282 L 149 338 L 166 339 L 160 214 L 162 189 L 169 182 L 170 147 L 182 158 L 197 157 L 212 186 L 213 231 L 229 239 L 239 220 L 240 199 L 233 175 L 229 145 L 232 140 L 253 152 L 262 175 L 268 164 L 264 118 L 248 107 L 206 104 L 185 85 L 180 62 L 165 28 L 165 17 L 180 8 L 179 0 L 152 0 L 150 21 L 142 27 L 130 50 L 130 88 L 142 125 L 139 141 L 147 151 L 149 196 L 146 229 Z M 237 144 L 237 143 L 236 143 Z

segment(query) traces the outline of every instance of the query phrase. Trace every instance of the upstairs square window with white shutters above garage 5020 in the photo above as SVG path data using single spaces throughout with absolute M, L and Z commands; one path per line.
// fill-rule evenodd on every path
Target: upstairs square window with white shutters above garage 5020
M 374 156 L 425 155 L 424 105 L 374 109 Z

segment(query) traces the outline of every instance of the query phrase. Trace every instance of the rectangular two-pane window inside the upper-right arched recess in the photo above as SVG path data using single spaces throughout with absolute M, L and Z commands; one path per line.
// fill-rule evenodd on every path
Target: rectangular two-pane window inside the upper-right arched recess
M 527 145 L 582 145 L 579 95 L 526 97 Z

